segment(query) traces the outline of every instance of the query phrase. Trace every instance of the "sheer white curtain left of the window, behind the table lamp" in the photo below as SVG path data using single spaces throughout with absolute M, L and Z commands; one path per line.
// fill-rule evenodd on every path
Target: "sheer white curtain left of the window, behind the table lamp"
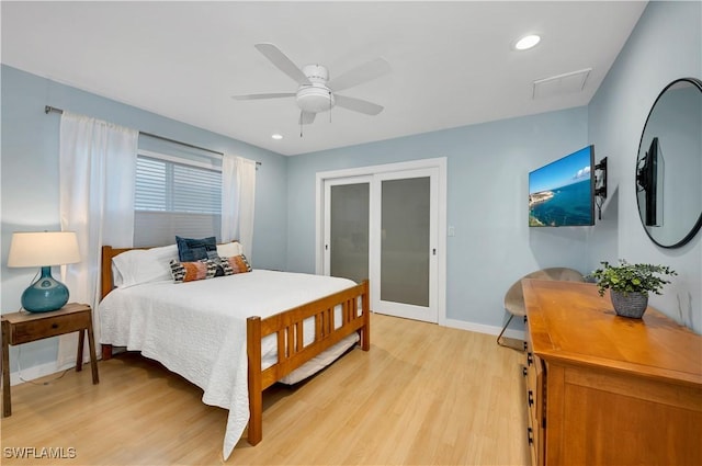
M 103 245 L 129 247 L 134 238 L 134 184 L 138 132 L 64 112 L 60 122 L 61 229 L 76 231 L 81 261 L 63 268 L 70 300 L 92 306 L 100 341 L 100 253 Z M 58 365 L 76 362 L 77 333 L 59 339 Z

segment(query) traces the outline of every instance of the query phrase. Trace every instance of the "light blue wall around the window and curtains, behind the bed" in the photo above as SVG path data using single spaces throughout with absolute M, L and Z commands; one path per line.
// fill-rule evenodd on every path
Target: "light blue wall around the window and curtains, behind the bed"
M 35 270 L 8 269 L 13 231 L 59 228 L 58 129 L 60 116 L 45 114 L 53 105 L 143 132 L 186 141 L 212 150 L 262 162 L 257 173 L 254 266 L 284 269 L 286 262 L 285 195 L 287 158 L 248 144 L 196 128 L 2 66 L 2 312 L 20 307 L 20 295 Z M 55 339 L 22 346 L 22 367 L 56 359 Z M 13 351 L 16 351 L 14 348 Z M 15 353 L 11 359 L 16 361 Z M 15 370 L 13 363 L 12 370 Z

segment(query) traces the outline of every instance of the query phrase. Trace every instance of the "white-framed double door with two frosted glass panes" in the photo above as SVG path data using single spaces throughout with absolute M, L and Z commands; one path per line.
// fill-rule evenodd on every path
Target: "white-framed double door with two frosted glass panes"
M 438 322 L 439 168 L 329 177 L 322 184 L 321 272 L 369 279 L 373 311 Z

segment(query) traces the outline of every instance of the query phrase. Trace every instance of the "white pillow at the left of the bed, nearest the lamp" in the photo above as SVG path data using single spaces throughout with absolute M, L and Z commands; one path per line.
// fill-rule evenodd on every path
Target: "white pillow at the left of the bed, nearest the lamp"
M 151 249 L 133 249 L 112 259 L 113 270 L 121 276 L 114 281 L 118 288 L 141 283 L 171 280 L 170 262 L 178 261 L 178 246 L 170 245 Z M 116 275 L 115 275 L 116 276 Z

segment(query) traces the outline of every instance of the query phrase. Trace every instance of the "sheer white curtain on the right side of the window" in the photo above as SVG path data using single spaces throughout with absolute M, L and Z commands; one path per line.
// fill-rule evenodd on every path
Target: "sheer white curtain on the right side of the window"
M 256 161 L 224 155 L 222 160 L 222 242 L 239 240 L 251 260 Z

